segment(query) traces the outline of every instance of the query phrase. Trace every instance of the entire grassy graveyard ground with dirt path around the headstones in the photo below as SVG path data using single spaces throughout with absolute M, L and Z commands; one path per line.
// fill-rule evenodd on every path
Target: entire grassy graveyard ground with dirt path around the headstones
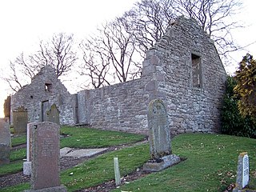
M 182 162 L 165 170 L 145 173 L 142 166 L 150 159 L 150 145 L 145 135 L 127 134 L 85 127 L 62 127 L 60 148 L 108 148 L 91 158 L 71 160 L 62 167 L 60 182 L 68 191 L 225 191 L 236 182 L 238 155 L 250 157 L 250 189 L 256 188 L 255 139 L 221 134 L 181 134 L 171 141 L 173 154 Z M 26 158 L 26 135 L 12 138 L 10 163 L 0 166 L 0 191 L 30 189 L 30 177 L 21 183 L 11 182 L 22 175 L 22 159 Z M 114 184 L 114 162 L 118 157 L 121 186 Z M 65 164 L 65 163 L 64 163 Z M 8 183 L 8 182 L 7 182 Z M 171 189 L 171 190 L 170 190 Z M 227 190 L 226 190 L 227 191 Z

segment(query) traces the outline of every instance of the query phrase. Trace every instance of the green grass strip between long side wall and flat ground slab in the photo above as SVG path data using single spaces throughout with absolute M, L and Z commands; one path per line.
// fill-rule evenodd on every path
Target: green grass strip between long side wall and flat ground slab
M 69 137 L 61 138 L 61 148 L 64 146 L 75 148 L 101 148 L 118 146 L 126 143 L 138 142 L 145 138 L 142 134 L 129 134 L 113 130 L 95 130 L 85 127 L 62 127 L 62 134 Z

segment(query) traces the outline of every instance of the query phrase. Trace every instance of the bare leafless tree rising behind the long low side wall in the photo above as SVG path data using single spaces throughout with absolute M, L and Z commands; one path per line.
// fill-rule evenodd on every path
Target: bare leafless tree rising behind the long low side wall
M 82 68 L 91 79 L 94 88 L 111 82 L 126 82 L 138 76 L 141 65 L 134 62 L 136 54 L 132 35 L 125 30 L 126 23 L 116 18 L 98 28 L 98 35 L 83 43 Z

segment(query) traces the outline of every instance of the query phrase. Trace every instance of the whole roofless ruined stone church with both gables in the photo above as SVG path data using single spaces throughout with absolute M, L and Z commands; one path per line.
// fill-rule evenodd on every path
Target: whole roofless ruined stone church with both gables
M 226 71 L 210 39 L 193 19 L 177 18 L 147 51 L 142 77 L 70 94 L 45 66 L 11 97 L 11 121 L 23 109 L 27 122 L 42 122 L 50 106 L 62 125 L 147 134 L 147 106 L 162 99 L 172 134 L 214 132 L 220 127 Z

